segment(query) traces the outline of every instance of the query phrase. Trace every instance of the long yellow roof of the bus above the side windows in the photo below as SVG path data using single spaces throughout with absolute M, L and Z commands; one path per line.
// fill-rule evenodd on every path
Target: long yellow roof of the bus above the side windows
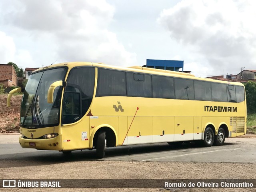
M 244 86 L 240 82 L 227 82 L 227 81 L 214 80 L 214 79 L 209 79 L 209 78 L 206 79 L 206 78 L 201 78 L 201 77 L 195 77 L 193 74 L 184 73 L 184 72 L 146 68 L 146 67 L 141 67 L 141 66 L 120 67 L 120 66 L 106 65 L 103 63 L 93 63 L 93 62 L 66 62 L 66 63 L 54 64 L 54 65 L 39 68 L 38 70 L 35 70 L 32 73 L 38 72 L 40 70 L 44 70 L 47 68 L 60 67 L 60 66 L 68 66 L 69 69 L 71 69 L 73 67 L 77 67 L 77 66 L 95 66 L 95 67 L 100 67 L 100 68 L 110 68 L 110 69 L 130 71 L 130 72 L 148 73 L 148 74 L 156 74 L 156 75 L 162 75 L 162 76 L 172 76 L 172 77 L 179 77 L 179 78 L 188 78 L 188 79 L 194 79 L 194 80 Z

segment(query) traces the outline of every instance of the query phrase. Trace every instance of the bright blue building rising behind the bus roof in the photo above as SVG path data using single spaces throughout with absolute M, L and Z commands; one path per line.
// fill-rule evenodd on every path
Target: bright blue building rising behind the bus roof
M 184 61 L 174 61 L 174 60 L 155 60 L 147 59 L 147 64 L 143 67 L 163 69 L 170 71 L 179 71 L 181 68 L 183 72 Z

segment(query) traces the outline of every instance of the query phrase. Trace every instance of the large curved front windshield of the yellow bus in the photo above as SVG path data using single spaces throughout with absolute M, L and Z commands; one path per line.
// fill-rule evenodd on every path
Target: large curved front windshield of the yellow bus
M 66 68 L 54 68 L 30 75 L 22 97 L 20 126 L 42 128 L 58 125 L 62 87 L 55 89 L 53 103 L 47 102 L 47 93 L 52 83 L 64 80 L 66 72 Z

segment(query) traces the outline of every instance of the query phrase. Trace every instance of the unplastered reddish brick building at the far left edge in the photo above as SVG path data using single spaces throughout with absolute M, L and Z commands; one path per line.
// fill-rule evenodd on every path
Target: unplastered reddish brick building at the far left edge
M 17 86 L 17 74 L 12 65 L 0 64 L 0 84 L 6 87 Z

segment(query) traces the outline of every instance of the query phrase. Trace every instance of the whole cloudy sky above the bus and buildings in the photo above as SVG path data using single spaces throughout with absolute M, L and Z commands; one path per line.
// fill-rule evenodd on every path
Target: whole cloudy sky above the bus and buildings
M 0 63 L 142 66 L 200 77 L 256 70 L 255 0 L 1 0 Z

